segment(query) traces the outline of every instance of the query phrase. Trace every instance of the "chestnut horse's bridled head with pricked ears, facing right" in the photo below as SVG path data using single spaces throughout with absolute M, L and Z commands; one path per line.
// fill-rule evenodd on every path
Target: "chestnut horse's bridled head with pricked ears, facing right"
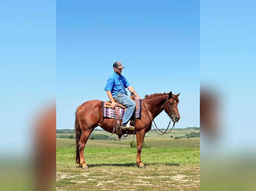
M 173 122 L 178 122 L 180 118 L 178 107 L 177 107 L 179 102 L 178 96 L 179 94 L 174 95 L 170 92 L 167 100 L 163 105 L 164 111 L 169 115 L 169 117 Z

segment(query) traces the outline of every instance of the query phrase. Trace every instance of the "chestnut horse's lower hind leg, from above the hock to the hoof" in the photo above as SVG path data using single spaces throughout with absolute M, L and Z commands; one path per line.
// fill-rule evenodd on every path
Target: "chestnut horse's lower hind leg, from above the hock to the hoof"
M 79 153 L 80 153 L 80 163 L 79 163 L 79 165 L 84 170 L 89 169 L 87 164 L 85 163 L 84 148 L 85 148 L 85 144 L 86 144 L 91 132 L 93 131 L 93 129 L 94 128 L 88 129 L 87 131 L 82 131 L 80 141 L 78 142 L 78 148 L 79 148 Z

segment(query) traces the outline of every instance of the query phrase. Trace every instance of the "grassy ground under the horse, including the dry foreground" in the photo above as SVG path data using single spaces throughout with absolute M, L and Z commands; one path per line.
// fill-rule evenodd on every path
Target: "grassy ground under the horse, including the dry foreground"
M 132 136 L 133 139 L 133 136 Z M 74 139 L 56 139 L 56 190 L 200 190 L 200 139 L 150 138 L 135 163 L 131 139 L 89 140 L 85 158 L 89 170 L 75 164 Z

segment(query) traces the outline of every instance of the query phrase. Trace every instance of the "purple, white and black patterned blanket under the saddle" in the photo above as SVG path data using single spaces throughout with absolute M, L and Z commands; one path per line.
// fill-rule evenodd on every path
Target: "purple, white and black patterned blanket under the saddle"
M 141 117 L 141 99 L 137 100 L 138 102 L 138 109 L 134 110 L 134 114 L 135 114 L 135 119 Z M 115 110 L 112 108 L 108 108 L 108 107 L 104 107 L 105 101 L 103 101 L 103 117 L 109 117 L 109 118 L 117 118 L 115 116 Z M 119 113 L 120 113 L 120 119 L 123 119 L 124 116 L 124 112 L 126 109 L 124 108 L 119 108 Z

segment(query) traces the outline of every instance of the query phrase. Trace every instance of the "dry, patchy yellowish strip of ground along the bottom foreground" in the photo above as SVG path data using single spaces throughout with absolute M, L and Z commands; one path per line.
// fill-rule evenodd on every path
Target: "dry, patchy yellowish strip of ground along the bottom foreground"
M 56 173 L 56 190 L 200 190 L 199 165 L 196 166 L 92 167 L 71 173 Z

